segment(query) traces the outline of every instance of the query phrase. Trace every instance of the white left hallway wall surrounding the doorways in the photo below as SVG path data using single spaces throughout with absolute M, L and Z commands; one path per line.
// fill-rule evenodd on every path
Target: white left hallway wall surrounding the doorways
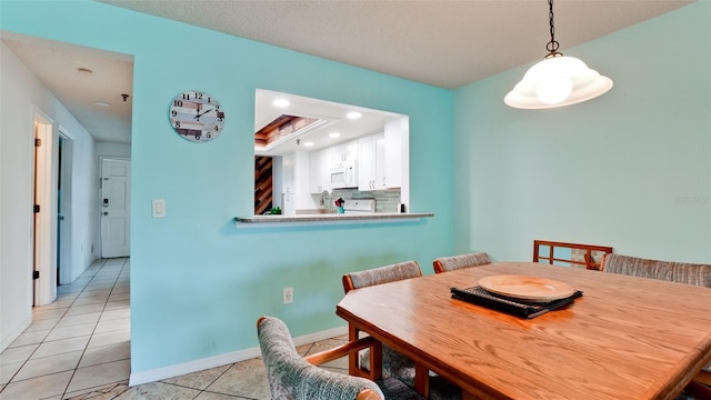
M 91 136 L 4 43 L 0 43 L 0 67 L 1 351 L 32 318 L 33 107 L 74 137 L 71 264 L 77 271 L 93 260 L 98 172 Z

